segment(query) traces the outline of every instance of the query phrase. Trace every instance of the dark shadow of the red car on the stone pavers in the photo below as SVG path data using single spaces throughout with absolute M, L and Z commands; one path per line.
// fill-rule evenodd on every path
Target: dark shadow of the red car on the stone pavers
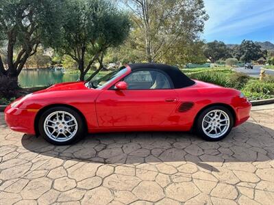
M 221 141 L 204 141 L 191 133 L 134 132 L 86 136 L 70 146 L 53 146 L 42 137 L 24 135 L 25 149 L 64 160 L 105 164 L 195 163 L 219 172 L 223 163 L 274 159 L 274 130 L 253 122 L 232 129 Z

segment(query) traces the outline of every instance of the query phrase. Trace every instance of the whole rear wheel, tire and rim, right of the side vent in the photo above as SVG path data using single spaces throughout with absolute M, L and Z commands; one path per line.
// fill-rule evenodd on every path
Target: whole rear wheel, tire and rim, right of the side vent
M 225 138 L 234 124 L 231 111 L 222 106 L 212 106 L 200 113 L 196 122 L 197 134 L 208 141 Z

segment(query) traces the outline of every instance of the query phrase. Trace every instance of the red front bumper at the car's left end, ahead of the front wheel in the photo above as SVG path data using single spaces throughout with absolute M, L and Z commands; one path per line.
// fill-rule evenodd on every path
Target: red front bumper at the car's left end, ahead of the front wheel
M 5 122 L 12 131 L 35 135 L 34 119 L 38 110 L 10 107 L 5 109 Z

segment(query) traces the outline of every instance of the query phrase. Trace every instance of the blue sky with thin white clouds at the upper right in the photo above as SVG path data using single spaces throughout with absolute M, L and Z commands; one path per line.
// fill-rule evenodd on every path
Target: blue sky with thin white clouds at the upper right
M 239 44 L 242 40 L 274 43 L 274 0 L 204 0 L 210 16 L 201 38 Z

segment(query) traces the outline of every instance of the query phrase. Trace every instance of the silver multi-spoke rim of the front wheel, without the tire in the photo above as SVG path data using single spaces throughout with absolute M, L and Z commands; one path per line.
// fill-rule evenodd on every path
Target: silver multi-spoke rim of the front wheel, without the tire
M 77 120 L 71 113 L 55 111 L 47 115 L 44 131 L 54 141 L 69 141 L 77 133 Z

